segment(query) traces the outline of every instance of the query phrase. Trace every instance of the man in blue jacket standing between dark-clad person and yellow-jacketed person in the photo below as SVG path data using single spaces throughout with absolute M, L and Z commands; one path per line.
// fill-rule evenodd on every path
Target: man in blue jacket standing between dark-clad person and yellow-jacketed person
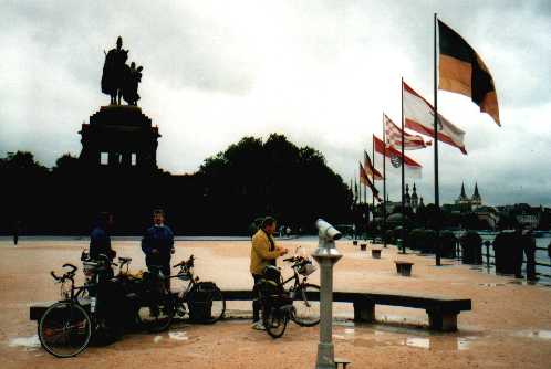
M 174 254 L 174 233 L 165 225 L 165 213 L 163 210 L 153 212 L 153 226 L 148 228 L 142 239 L 142 250 L 145 253 L 147 268 L 160 267 L 163 275 L 167 278 L 167 288 L 170 288 L 168 277 L 170 276 L 170 257 Z

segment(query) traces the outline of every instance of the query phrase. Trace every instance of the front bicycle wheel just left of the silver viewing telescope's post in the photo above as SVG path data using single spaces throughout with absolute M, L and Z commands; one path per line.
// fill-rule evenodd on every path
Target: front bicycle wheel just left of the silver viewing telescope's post
M 316 299 L 313 299 L 316 297 Z M 320 323 L 320 286 L 304 284 L 294 291 L 294 314 L 291 319 L 302 327 L 313 327 Z

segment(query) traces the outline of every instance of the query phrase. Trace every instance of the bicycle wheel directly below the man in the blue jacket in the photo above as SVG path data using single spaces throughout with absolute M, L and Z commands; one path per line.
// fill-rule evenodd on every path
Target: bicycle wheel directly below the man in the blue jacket
M 142 328 L 159 333 L 166 330 L 173 323 L 175 304 L 168 292 L 153 294 L 141 305 L 136 313 L 136 320 Z

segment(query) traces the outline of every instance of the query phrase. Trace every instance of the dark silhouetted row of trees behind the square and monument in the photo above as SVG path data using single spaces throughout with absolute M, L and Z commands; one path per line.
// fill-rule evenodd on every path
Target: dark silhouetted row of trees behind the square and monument
M 1 158 L 0 173 L 4 234 L 18 223 L 23 234 L 86 234 L 100 211 L 114 213 L 115 233 L 136 234 L 156 208 L 177 234 L 247 234 L 267 214 L 312 232 L 316 218 L 352 217 L 352 192 L 324 156 L 278 134 L 243 137 L 189 175 L 84 167 L 70 154 L 46 168 L 22 151 Z

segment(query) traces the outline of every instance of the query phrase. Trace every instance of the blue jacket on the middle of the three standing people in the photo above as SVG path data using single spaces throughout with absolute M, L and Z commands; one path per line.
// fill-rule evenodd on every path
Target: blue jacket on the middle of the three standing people
M 158 253 L 153 253 L 153 250 Z M 167 265 L 170 264 L 171 250 L 174 249 L 174 233 L 166 226 L 150 226 L 142 239 L 142 250 L 145 253 L 145 263 L 147 265 Z

